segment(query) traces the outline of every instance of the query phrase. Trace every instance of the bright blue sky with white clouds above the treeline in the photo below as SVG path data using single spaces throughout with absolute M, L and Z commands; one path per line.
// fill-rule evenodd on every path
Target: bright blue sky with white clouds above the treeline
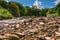
M 57 3 L 60 2 L 60 0 L 38 0 L 37 3 L 39 3 L 39 5 L 37 3 L 35 3 L 37 0 L 14 0 L 16 2 L 19 2 L 21 4 L 23 4 L 24 6 L 33 6 L 33 5 L 37 5 L 40 6 L 42 8 L 47 7 L 47 8 L 52 8 L 55 7 Z

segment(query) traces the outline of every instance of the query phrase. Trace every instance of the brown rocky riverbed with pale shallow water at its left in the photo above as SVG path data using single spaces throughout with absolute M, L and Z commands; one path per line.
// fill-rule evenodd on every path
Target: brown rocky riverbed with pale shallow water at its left
M 60 17 L 0 20 L 0 40 L 60 40 Z

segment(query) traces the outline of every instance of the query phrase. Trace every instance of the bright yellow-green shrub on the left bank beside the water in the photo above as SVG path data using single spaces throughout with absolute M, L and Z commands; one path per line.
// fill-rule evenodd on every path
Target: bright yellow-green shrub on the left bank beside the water
M 0 7 L 0 19 L 8 19 L 12 18 L 13 16 L 9 13 L 8 10 Z

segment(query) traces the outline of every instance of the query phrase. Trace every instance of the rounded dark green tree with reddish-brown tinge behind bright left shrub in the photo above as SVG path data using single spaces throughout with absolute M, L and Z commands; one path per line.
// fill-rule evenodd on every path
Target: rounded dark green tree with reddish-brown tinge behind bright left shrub
M 10 11 L 10 13 L 13 16 L 15 16 L 15 17 L 19 17 L 20 16 L 19 6 L 15 2 L 9 2 L 8 10 Z

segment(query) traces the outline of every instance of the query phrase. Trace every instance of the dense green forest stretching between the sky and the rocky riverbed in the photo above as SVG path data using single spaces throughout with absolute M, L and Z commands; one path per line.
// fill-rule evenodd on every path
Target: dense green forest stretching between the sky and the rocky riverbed
M 52 16 L 60 15 L 60 3 L 58 3 L 54 8 L 42 8 L 38 9 L 36 6 L 23 6 L 15 1 L 6 2 L 5 0 L 0 0 L 0 19 L 8 19 L 21 16 L 47 16 L 51 14 Z

